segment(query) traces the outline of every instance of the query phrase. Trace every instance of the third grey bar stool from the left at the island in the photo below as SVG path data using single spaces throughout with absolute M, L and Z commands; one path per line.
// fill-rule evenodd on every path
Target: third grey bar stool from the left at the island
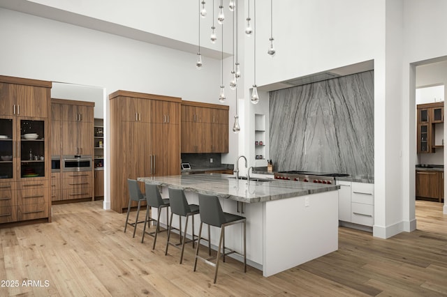
M 197 204 L 188 204 L 188 201 L 186 201 L 186 197 L 184 195 L 183 190 L 178 189 L 172 189 L 169 188 L 169 199 L 170 199 L 170 220 L 169 220 L 169 227 L 168 227 L 168 241 L 166 241 L 166 251 L 165 255 L 168 254 L 168 248 L 169 245 L 175 246 L 175 248 L 179 248 L 182 250 L 180 253 L 180 264 L 182 264 L 183 261 L 183 252 L 184 252 L 184 245 L 186 243 L 186 230 L 188 228 L 188 218 L 192 217 L 192 230 L 193 230 L 193 236 L 192 239 L 188 241 L 193 243 L 194 248 L 194 241 L 197 240 L 197 236 L 194 236 L 194 215 L 198 214 L 198 205 Z M 173 227 L 173 216 L 178 215 L 179 216 L 179 228 Z M 186 222 L 184 224 L 184 231 L 183 231 L 183 237 L 182 237 L 182 217 L 186 217 Z M 180 243 L 173 243 L 170 241 L 170 231 L 172 229 L 176 229 L 179 231 L 180 236 Z M 182 245 L 180 248 L 179 245 Z

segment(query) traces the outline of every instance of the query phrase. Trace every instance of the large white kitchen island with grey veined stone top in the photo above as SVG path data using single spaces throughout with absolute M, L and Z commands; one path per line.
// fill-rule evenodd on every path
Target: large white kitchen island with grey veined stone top
M 190 204 L 198 204 L 198 193 L 216 195 L 223 211 L 246 217 L 247 264 L 263 271 L 265 277 L 338 249 L 339 185 L 248 182 L 227 174 L 140 177 L 138 181 L 160 185 L 163 198 L 169 196 L 168 187 L 183 189 Z M 162 215 L 161 224 L 166 226 L 166 214 Z M 191 231 L 189 224 L 189 236 Z M 198 234 L 198 224 L 194 232 Z M 242 227 L 229 227 L 225 233 L 226 246 L 241 252 Z M 214 249 L 218 236 L 212 227 Z

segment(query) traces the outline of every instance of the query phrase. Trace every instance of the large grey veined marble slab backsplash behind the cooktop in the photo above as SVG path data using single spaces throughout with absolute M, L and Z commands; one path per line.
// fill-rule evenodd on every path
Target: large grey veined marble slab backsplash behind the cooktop
M 374 71 L 270 92 L 275 171 L 374 176 Z

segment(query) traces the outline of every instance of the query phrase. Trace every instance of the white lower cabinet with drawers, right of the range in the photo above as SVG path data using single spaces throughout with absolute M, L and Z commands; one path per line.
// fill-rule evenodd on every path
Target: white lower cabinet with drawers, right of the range
M 374 225 L 374 183 L 337 181 L 339 220 L 367 227 Z

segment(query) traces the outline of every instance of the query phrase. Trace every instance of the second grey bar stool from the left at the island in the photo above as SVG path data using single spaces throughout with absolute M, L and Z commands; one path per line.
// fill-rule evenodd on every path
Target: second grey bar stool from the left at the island
M 152 185 L 150 183 L 145 183 L 146 187 L 146 220 L 145 220 L 145 227 L 142 229 L 142 238 L 141 243 L 145 240 L 145 233 L 147 233 L 150 236 L 154 236 L 154 244 L 152 245 L 152 250 L 155 248 L 156 243 L 156 236 L 160 233 L 160 213 L 161 208 L 166 208 L 166 221 L 169 218 L 169 199 L 163 199 L 161 198 L 160 191 L 158 185 Z M 157 208 L 158 209 L 158 215 L 157 219 L 151 218 L 150 215 L 150 208 Z M 152 215 L 153 217 L 153 215 Z M 147 222 L 156 222 L 156 229 L 153 232 L 146 232 L 146 223 Z M 150 226 L 149 226 L 150 227 Z M 166 230 L 164 230 L 166 231 Z

